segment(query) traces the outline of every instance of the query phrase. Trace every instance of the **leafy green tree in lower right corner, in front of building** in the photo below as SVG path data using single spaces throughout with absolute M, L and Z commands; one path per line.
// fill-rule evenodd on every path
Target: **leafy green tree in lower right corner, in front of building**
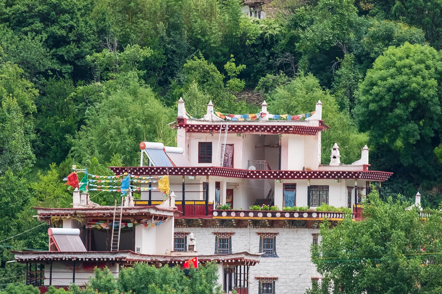
M 417 208 L 407 210 L 408 202 L 381 201 L 376 190 L 368 200 L 362 220 L 348 215 L 334 227 L 320 225 L 312 261 L 325 282 L 308 293 L 437 293 L 442 212 L 422 220 Z

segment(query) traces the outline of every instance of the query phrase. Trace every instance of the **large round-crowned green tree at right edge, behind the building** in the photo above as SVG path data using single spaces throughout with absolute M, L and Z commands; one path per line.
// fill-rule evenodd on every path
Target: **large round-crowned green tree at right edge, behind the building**
M 387 166 L 400 162 L 427 175 L 434 167 L 442 119 L 440 68 L 434 48 L 405 43 L 379 56 L 361 83 L 354 117 L 383 149 Z

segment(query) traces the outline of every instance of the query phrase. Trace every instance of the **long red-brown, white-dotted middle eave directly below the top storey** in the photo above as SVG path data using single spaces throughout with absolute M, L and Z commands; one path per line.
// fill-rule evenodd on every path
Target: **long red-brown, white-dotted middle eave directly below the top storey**
M 131 175 L 211 175 L 239 179 L 367 179 L 386 181 L 387 171 L 249 171 L 229 167 L 109 167 L 115 174 Z

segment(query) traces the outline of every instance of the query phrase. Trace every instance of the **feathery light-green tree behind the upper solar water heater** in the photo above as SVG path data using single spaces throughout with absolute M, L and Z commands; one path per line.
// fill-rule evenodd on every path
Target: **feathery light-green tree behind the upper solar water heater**
M 139 163 L 138 142 L 175 143 L 175 131 L 167 126 L 174 115 L 149 88 L 134 93 L 117 90 L 86 112 L 86 124 L 71 138 L 72 157 L 85 163 L 92 157 L 107 163 L 119 153 L 126 166 Z

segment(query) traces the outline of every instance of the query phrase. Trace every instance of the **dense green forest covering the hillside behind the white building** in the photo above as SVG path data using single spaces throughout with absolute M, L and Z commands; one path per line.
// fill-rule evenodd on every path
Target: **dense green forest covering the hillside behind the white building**
M 273 0 L 265 19 L 242 5 L 2 1 L 0 289 L 24 279 L 8 250 L 47 249 L 32 207 L 69 206 L 72 164 L 105 174 L 137 165 L 140 141 L 174 145 L 167 124 L 179 97 L 194 117 L 209 100 L 220 112 L 257 112 L 234 96 L 243 89 L 263 93 L 273 113 L 311 112 L 321 100 L 331 127 L 323 163 L 335 142 L 346 164 L 368 144 L 370 169 L 394 172 L 382 199 L 413 201 L 419 190 L 423 206 L 438 206 L 442 3 Z

